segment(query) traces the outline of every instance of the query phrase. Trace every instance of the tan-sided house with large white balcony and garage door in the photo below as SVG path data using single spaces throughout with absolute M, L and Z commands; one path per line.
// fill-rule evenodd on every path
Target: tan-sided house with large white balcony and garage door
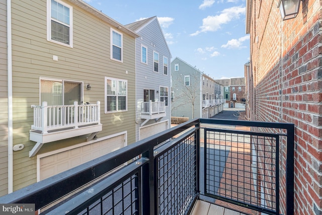
M 1 195 L 135 141 L 138 35 L 81 0 L 13 1 L 11 11 L 12 55 L 0 47 Z M 5 35 L 6 26 L 0 31 Z M 3 81 L 7 56 L 12 82 Z

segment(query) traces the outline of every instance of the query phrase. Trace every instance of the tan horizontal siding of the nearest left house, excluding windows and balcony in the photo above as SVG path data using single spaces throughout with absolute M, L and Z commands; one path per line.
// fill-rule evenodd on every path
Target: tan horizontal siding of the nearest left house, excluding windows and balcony
M 126 130 L 128 144 L 135 141 L 135 38 L 123 33 L 123 63 L 111 60 L 110 26 L 65 2 L 73 7 L 73 48 L 47 41 L 46 0 L 12 3 L 14 145 L 25 145 L 14 152 L 14 190 L 36 182 L 36 156 L 29 158 L 36 142 L 29 141 L 29 130 L 31 105 L 39 105 L 40 77 L 84 82 L 84 102 L 101 101 L 103 130 L 98 137 Z M 128 81 L 128 111 L 104 113 L 106 76 Z M 86 90 L 87 83 L 91 90 Z M 38 154 L 84 142 L 87 136 L 44 144 Z

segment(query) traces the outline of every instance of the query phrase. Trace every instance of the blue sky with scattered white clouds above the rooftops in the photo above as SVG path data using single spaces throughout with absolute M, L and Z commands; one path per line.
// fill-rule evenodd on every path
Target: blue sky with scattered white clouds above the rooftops
M 246 0 L 84 1 L 122 25 L 157 16 L 172 59 L 214 79 L 244 77 L 250 55 Z

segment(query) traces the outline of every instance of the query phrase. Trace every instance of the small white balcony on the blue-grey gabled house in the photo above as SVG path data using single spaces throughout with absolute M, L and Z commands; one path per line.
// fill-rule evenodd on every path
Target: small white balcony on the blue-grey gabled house
M 142 102 L 141 103 L 141 119 L 146 119 L 141 126 L 143 126 L 148 120 L 165 117 L 166 114 L 166 102 Z

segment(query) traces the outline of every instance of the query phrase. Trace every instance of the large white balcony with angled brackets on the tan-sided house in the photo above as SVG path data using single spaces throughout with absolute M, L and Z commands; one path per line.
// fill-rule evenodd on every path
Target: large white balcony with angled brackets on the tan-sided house
M 29 131 L 29 139 L 37 142 L 29 157 L 35 156 L 41 146 L 47 142 L 66 139 L 84 134 L 91 134 L 92 139 L 102 130 L 100 122 L 100 102 L 96 104 L 32 105 L 34 109 L 34 123 Z

